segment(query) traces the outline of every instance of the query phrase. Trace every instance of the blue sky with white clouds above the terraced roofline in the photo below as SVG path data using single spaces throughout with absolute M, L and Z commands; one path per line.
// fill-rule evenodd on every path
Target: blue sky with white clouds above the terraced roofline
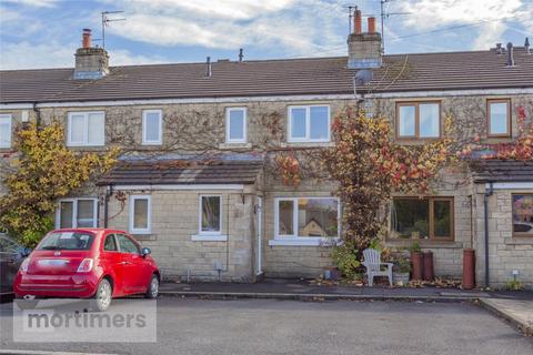
M 348 4 L 380 0 L 0 0 L 0 69 L 73 65 L 83 28 L 111 65 L 345 55 Z M 533 0 L 388 0 L 385 52 L 486 50 L 533 43 Z M 363 22 L 365 23 L 365 21 Z M 363 26 L 363 30 L 365 24 Z

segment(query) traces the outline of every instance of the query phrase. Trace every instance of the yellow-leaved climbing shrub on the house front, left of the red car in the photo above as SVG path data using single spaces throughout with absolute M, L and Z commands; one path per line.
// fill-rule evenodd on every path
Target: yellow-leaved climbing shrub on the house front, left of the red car
M 82 153 L 64 145 L 59 122 L 39 128 L 31 123 L 14 133 L 11 172 L 0 197 L 0 230 L 33 246 L 53 226 L 57 200 L 112 166 L 118 150 Z

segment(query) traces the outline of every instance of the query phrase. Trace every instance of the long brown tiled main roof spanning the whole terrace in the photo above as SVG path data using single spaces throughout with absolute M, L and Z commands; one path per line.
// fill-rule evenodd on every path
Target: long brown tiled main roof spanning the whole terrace
M 494 50 L 384 55 L 359 92 L 533 87 L 533 54 L 514 50 L 515 67 Z M 112 58 L 111 58 L 112 61 Z M 0 103 L 134 99 L 350 94 L 346 57 L 112 67 L 100 80 L 72 80 L 73 69 L 0 71 Z

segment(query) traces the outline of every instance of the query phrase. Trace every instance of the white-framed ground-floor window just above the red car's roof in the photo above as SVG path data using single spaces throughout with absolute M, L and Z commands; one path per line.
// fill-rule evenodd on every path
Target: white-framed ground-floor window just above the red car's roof
M 59 201 L 56 224 L 59 229 L 97 227 L 97 199 L 69 199 Z

